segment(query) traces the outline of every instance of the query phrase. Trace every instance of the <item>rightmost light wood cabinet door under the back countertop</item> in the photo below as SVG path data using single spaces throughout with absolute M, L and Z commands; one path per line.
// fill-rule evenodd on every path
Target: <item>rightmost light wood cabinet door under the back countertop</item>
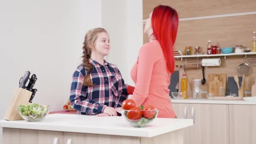
M 256 105 L 229 105 L 230 144 L 256 144 Z

